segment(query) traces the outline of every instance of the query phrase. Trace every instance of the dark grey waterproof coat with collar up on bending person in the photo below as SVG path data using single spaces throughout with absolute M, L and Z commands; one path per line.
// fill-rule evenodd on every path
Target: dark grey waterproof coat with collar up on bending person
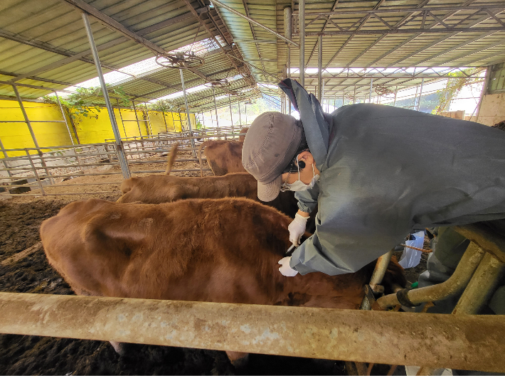
M 296 81 L 280 87 L 321 171 L 295 194 L 304 212 L 319 204 L 316 232 L 292 254 L 300 274 L 357 271 L 413 229 L 505 218 L 504 131 L 376 104 L 324 114 Z

